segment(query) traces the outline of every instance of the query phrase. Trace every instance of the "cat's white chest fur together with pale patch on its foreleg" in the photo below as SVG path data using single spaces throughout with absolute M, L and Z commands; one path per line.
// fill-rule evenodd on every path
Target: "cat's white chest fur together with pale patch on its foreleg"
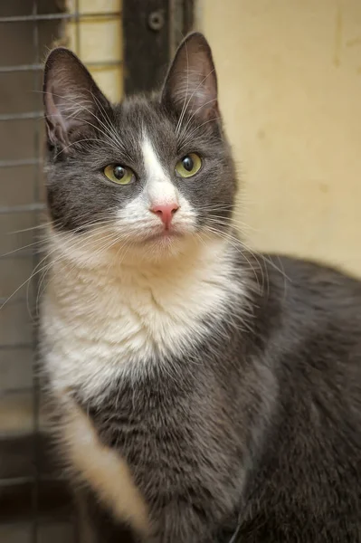
M 79 255 L 78 255 L 79 256 Z M 202 319 L 227 311 L 242 295 L 232 281 L 230 248 L 201 243 L 164 266 L 76 265 L 54 259 L 43 300 L 43 358 L 52 394 L 62 403 L 60 437 L 68 462 L 119 519 L 147 531 L 147 504 L 128 466 L 104 447 L 90 420 L 71 404 L 67 389 L 101 399 L 101 391 L 145 364 L 166 363 L 204 334 Z

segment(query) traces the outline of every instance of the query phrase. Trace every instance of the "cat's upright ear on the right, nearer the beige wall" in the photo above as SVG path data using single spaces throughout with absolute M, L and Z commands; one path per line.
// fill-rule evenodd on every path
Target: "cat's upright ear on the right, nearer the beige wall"
M 179 115 L 202 121 L 219 117 L 217 77 L 211 48 L 202 33 L 189 34 L 166 75 L 162 101 Z

